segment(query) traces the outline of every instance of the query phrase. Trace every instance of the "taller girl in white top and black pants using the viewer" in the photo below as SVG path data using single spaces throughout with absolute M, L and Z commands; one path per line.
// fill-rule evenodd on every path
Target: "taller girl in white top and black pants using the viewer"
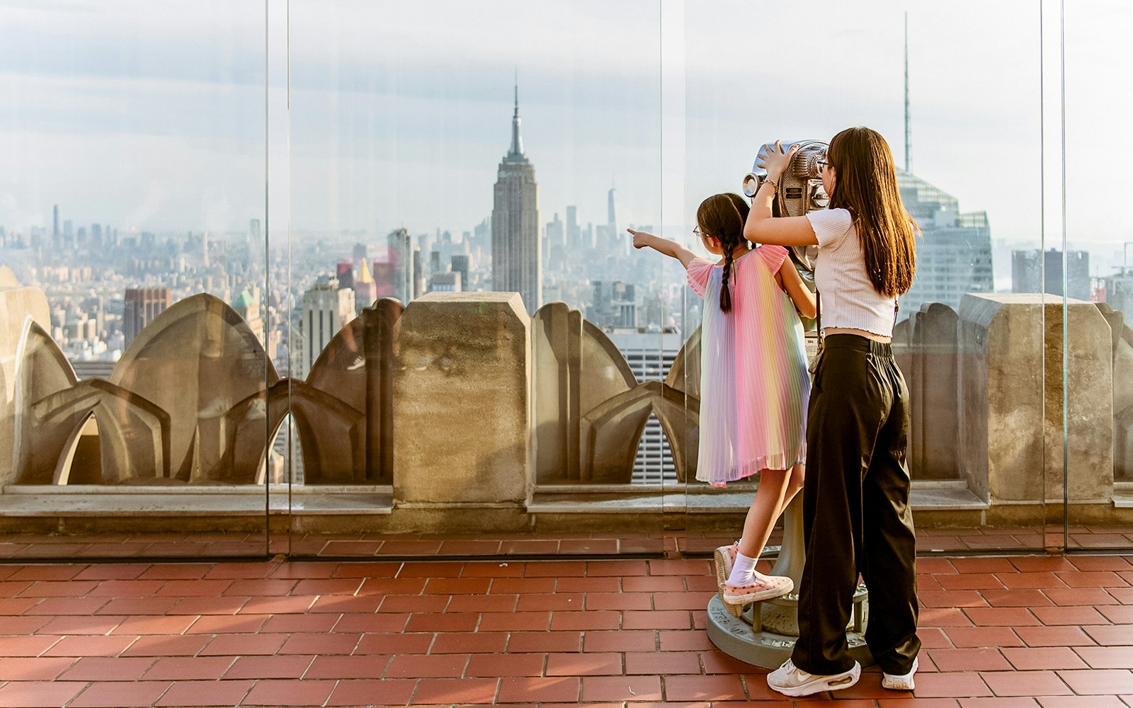
M 917 224 L 897 190 L 893 154 L 869 128 L 830 139 L 821 161 L 829 207 L 772 219 L 778 180 L 795 148 L 776 142 L 767 180 L 751 198 L 744 236 L 818 246 L 815 283 L 825 339 L 807 418 L 799 640 L 767 676 L 786 696 L 858 682 L 845 629 L 858 575 L 869 588 L 866 642 L 881 685 L 911 691 L 917 672 L 917 544 L 909 509 L 909 390 L 893 359 L 897 296 L 913 282 Z

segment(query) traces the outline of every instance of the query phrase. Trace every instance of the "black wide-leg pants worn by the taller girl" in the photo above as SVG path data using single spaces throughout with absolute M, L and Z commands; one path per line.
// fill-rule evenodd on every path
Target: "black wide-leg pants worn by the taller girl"
M 866 642 L 881 669 L 906 674 L 920 650 L 908 404 L 889 344 L 826 338 L 807 413 L 807 564 L 791 657 L 808 673 L 853 666 L 845 630 L 859 573 L 869 590 Z

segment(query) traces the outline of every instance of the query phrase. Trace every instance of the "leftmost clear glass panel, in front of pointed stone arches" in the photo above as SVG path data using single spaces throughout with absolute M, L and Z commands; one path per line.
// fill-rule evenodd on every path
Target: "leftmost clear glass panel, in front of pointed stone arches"
M 256 5 L 2 10 L 0 555 L 265 553 L 263 46 Z

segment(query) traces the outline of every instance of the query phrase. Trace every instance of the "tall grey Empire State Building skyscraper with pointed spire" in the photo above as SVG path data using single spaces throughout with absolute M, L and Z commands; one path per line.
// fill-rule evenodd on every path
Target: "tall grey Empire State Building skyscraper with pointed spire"
M 492 289 L 517 291 L 529 314 L 543 305 L 543 244 L 535 165 L 519 137 L 519 86 L 511 118 L 511 150 L 496 172 L 492 208 Z

